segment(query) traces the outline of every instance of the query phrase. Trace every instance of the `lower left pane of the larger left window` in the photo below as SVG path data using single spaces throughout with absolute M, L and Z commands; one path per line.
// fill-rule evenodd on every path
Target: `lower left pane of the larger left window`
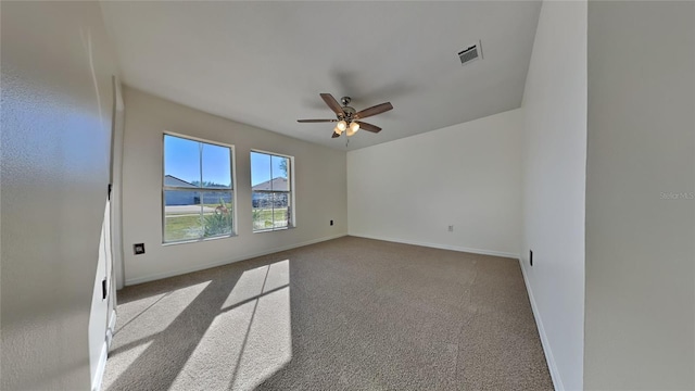
M 164 241 L 194 240 L 203 235 L 199 191 L 164 191 Z

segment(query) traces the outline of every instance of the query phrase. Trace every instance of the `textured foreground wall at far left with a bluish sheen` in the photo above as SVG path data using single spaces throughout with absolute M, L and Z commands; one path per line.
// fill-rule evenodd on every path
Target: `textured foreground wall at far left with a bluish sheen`
M 0 389 L 87 390 L 115 62 L 97 2 L 0 7 Z

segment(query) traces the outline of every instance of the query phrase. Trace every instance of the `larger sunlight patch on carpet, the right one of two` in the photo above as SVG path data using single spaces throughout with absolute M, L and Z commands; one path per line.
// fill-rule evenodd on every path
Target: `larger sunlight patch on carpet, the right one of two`
M 292 358 L 289 260 L 245 270 L 172 389 L 251 390 Z

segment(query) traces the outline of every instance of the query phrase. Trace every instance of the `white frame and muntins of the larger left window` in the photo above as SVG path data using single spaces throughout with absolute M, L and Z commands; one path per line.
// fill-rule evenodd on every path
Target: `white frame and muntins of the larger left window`
M 229 149 L 229 175 L 231 175 L 231 188 L 230 189 L 220 189 L 220 188 L 205 188 L 202 187 L 202 178 L 201 178 L 201 187 L 197 188 L 195 190 L 191 190 L 191 188 L 187 188 L 187 187 L 178 187 L 178 186 L 166 186 L 164 185 L 164 178 L 166 177 L 166 150 L 164 147 L 164 142 L 166 139 L 166 136 L 172 136 L 172 137 L 177 137 L 177 138 L 181 138 L 185 140 L 190 140 L 190 141 L 197 141 L 197 142 L 202 142 L 202 143 L 206 143 L 206 144 L 211 144 L 211 146 L 217 146 L 217 147 L 223 147 L 223 148 L 228 148 Z M 224 143 L 224 142 L 217 142 L 217 141 L 211 141 L 207 139 L 203 139 L 200 137 L 195 137 L 195 136 L 190 136 L 190 135 L 184 135 L 184 134 L 178 134 L 178 133 L 173 133 L 173 131 L 163 131 L 162 133 L 162 176 L 161 176 L 161 189 L 162 189 L 162 207 L 160 209 L 160 212 L 162 213 L 162 245 L 174 245 L 174 244 L 184 244 L 184 243 L 197 243 L 197 242 L 201 242 L 201 241 L 207 241 L 207 240 L 217 240 L 217 239 L 227 239 L 227 238 L 233 238 L 237 235 L 237 164 L 236 164 L 236 157 L 237 157 L 237 151 L 235 150 L 235 146 L 233 144 L 228 144 L 228 143 Z M 199 164 L 201 164 L 201 168 L 202 168 L 202 156 L 200 156 L 201 161 Z M 166 191 L 199 191 L 200 193 L 205 193 L 205 192 L 219 192 L 219 193 L 231 193 L 231 204 L 232 204 L 232 209 L 231 209 L 231 232 L 230 234 L 224 234 L 224 235 L 217 235 L 217 236 L 213 236 L 213 237 L 201 237 L 198 239 L 181 239 L 181 240 L 174 240 L 174 241 L 166 241 L 166 212 L 165 212 L 165 207 L 166 207 Z M 203 195 L 204 197 L 204 195 Z M 202 201 L 201 205 L 202 205 Z M 201 212 L 201 219 L 203 218 L 203 214 Z

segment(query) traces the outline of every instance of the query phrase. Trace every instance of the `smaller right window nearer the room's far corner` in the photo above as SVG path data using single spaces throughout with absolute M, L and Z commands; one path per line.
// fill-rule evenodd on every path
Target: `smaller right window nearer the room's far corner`
M 253 231 L 292 227 L 292 157 L 251 152 Z

